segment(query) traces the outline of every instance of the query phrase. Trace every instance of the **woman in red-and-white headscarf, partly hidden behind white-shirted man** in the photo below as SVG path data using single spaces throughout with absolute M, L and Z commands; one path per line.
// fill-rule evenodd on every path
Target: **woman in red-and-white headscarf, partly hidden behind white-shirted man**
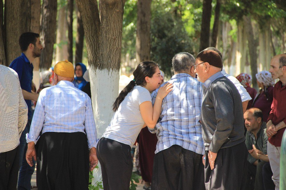
M 255 88 L 251 88 L 252 78 L 249 74 L 241 73 L 236 78 L 237 78 L 237 80 L 239 80 L 240 84 L 246 89 L 246 91 L 248 92 L 248 94 L 252 98 L 251 100 L 249 100 L 249 102 L 247 104 L 246 109 L 248 110 L 249 108 L 252 107 L 253 100 L 257 94 L 257 91 L 255 90 Z

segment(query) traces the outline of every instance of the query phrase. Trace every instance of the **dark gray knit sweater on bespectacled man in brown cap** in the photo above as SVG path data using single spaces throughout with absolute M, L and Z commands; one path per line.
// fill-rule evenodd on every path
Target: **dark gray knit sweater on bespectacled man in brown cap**
M 225 76 L 203 86 L 202 137 L 205 150 L 217 153 L 243 141 L 243 108 L 235 85 Z

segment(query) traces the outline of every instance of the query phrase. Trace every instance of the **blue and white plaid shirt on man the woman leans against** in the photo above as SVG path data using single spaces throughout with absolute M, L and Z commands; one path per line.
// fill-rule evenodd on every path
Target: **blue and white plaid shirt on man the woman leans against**
M 203 96 L 201 83 L 185 73 L 175 74 L 168 82 L 174 85 L 173 90 L 162 102 L 156 127 L 149 129 L 158 138 L 155 154 L 172 145 L 204 154 L 202 126 L 198 122 Z M 158 89 L 151 94 L 153 104 L 157 93 Z

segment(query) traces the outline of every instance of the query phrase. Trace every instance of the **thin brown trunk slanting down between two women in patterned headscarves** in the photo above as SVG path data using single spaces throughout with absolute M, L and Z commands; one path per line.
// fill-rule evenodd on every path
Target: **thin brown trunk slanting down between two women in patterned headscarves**
M 248 51 L 250 57 L 250 68 L 252 76 L 252 86 L 253 88 L 258 89 L 256 76 L 257 74 L 257 43 L 255 41 L 255 36 L 253 34 L 253 27 L 251 24 L 250 17 L 243 16 L 245 27 L 247 28 L 247 41 L 248 41 Z

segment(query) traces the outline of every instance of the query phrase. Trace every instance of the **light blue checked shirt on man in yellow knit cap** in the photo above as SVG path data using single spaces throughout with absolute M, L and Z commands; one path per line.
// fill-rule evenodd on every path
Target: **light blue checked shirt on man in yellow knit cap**
M 88 147 L 96 147 L 97 132 L 90 97 L 66 80 L 44 88 L 26 135 L 27 143 L 37 143 L 41 130 L 42 134 L 83 132 L 87 135 Z

